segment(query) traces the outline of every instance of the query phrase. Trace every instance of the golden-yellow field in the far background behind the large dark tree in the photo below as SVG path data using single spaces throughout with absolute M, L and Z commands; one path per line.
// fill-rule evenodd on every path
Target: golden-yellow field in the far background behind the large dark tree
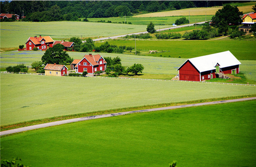
M 246 4 L 246 3 L 243 3 Z M 246 6 L 239 6 L 239 11 L 242 11 L 244 14 L 253 11 L 252 7 L 255 3 L 248 3 Z M 136 15 L 133 17 L 136 18 L 147 18 L 147 17 L 168 17 L 168 16 L 198 16 L 198 15 L 215 15 L 216 11 L 222 9 L 222 7 L 199 7 L 199 8 L 188 8 L 188 9 L 181 9 L 175 11 L 161 11 L 161 12 L 154 12 L 154 13 L 147 13 L 143 15 Z

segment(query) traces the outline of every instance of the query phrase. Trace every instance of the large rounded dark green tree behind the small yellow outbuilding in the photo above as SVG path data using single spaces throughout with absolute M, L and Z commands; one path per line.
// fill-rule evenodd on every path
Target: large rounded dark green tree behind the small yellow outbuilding
M 45 51 L 41 60 L 44 64 L 62 64 L 65 65 L 70 58 L 66 51 L 63 51 L 64 46 L 61 44 L 56 44 Z

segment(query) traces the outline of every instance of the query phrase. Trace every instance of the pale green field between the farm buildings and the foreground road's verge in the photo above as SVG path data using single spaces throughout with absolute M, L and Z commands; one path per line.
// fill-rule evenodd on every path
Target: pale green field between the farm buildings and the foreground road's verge
M 250 86 L 177 81 L 22 74 L 1 74 L 0 79 L 1 125 L 106 109 L 256 93 L 255 87 Z

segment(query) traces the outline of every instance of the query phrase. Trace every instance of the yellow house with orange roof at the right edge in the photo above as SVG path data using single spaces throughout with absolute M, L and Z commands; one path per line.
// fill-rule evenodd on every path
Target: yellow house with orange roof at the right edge
M 239 31 L 248 33 L 252 29 L 252 25 L 256 23 L 256 13 L 246 14 L 243 16 L 242 25 L 239 26 Z

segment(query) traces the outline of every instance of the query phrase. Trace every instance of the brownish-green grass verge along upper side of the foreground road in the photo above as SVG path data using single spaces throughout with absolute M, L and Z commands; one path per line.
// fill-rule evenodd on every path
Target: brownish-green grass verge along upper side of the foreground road
M 85 117 L 85 116 L 103 115 L 103 114 L 109 114 L 109 113 L 119 113 L 119 112 L 141 110 L 141 109 L 153 109 L 153 108 L 161 108 L 161 107 L 168 107 L 168 106 L 175 106 L 175 105 L 186 105 L 186 104 L 202 103 L 202 102 L 213 102 L 213 101 L 229 100 L 229 99 L 237 99 L 237 98 L 249 98 L 249 97 L 255 97 L 255 96 L 256 94 L 230 96 L 226 98 L 210 98 L 210 99 L 201 99 L 201 100 L 194 100 L 194 101 L 188 101 L 188 102 L 163 103 L 158 105 L 143 105 L 138 107 L 123 108 L 123 109 L 109 109 L 109 110 L 103 110 L 103 111 L 97 111 L 97 112 L 91 112 L 91 113 L 79 113 L 79 114 L 66 115 L 66 116 L 55 116 L 55 117 L 46 118 L 46 119 L 31 120 L 31 121 L 26 121 L 22 123 L 4 125 L 0 127 L 0 131 L 7 131 L 11 129 L 16 129 L 19 127 L 27 127 L 27 126 L 41 124 L 41 123 L 49 123 L 49 122 L 54 122 L 59 120 L 68 120 L 72 118 L 79 118 L 79 117 Z

